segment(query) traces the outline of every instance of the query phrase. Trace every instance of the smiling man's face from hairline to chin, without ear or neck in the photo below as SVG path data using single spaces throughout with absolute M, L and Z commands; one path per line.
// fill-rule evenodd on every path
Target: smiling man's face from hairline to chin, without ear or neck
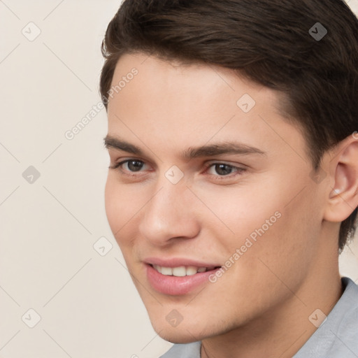
M 141 54 L 121 57 L 120 81 L 107 146 L 110 166 L 130 161 L 108 171 L 106 213 L 159 335 L 196 341 L 295 299 L 320 250 L 324 195 L 278 94 Z M 218 150 L 228 143 L 240 150 Z

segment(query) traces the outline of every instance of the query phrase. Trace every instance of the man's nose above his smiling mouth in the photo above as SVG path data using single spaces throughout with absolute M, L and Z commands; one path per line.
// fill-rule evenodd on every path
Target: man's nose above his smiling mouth
M 139 231 L 152 245 L 164 246 L 173 238 L 194 238 L 199 234 L 200 223 L 195 213 L 196 197 L 184 180 L 172 184 L 161 182 L 156 194 L 145 206 Z

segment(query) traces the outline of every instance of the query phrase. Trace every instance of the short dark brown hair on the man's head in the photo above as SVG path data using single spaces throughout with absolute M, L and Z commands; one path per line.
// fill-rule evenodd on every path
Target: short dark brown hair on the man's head
M 327 35 L 315 38 L 317 26 Z M 106 108 L 118 59 L 143 52 L 234 69 L 285 94 L 314 171 L 358 129 L 358 20 L 341 0 L 124 0 L 101 50 Z M 341 223 L 340 251 L 356 220 L 357 208 Z

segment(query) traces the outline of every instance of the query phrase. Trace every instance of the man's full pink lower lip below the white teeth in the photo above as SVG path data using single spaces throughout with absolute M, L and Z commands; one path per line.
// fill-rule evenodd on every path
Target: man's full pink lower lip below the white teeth
M 187 294 L 204 283 L 208 283 L 209 276 L 215 274 L 215 272 L 220 269 L 215 268 L 214 270 L 199 272 L 195 275 L 176 277 L 162 275 L 162 273 L 159 273 L 149 264 L 145 266 L 147 266 L 147 277 L 150 285 L 152 285 L 157 292 L 172 296 Z

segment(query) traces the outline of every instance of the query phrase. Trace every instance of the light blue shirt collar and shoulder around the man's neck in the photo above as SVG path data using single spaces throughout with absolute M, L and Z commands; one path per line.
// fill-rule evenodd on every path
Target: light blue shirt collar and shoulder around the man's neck
M 343 277 L 344 292 L 327 320 L 292 358 L 358 358 L 358 286 Z M 201 342 L 175 344 L 160 358 L 200 358 Z

